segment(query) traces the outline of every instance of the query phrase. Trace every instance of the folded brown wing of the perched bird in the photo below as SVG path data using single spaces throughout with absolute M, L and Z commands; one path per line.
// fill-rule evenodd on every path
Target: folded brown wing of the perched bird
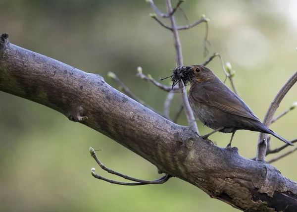
M 197 88 L 195 91 L 192 91 L 191 95 L 196 101 L 205 105 L 214 106 L 231 114 L 260 121 L 247 104 L 227 87 L 221 87 L 218 92 L 216 86 L 201 86 L 199 89 Z

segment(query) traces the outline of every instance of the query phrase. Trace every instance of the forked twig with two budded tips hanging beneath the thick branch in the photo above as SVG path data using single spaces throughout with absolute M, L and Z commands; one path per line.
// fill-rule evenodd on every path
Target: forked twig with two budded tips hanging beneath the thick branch
M 169 180 L 169 178 L 171 177 L 168 174 L 165 174 L 163 177 L 156 179 L 156 180 L 141 180 L 141 179 L 136 179 L 133 177 L 129 177 L 127 175 L 121 174 L 119 172 L 116 172 L 112 169 L 107 168 L 105 165 L 103 165 L 103 163 L 101 163 L 101 161 L 98 159 L 97 155 L 96 155 L 96 150 L 94 150 L 92 147 L 90 147 L 90 153 L 92 158 L 94 158 L 96 160 L 96 162 L 98 163 L 98 165 L 100 166 L 100 168 L 102 168 L 103 170 L 107 171 L 110 174 L 114 174 L 117 175 L 119 177 L 122 177 L 126 180 L 130 180 L 130 181 L 134 181 L 134 183 L 130 183 L 130 182 L 120 182 L 120 181 L 115 181 L 115 180 L 110 180 L 107 179 L 105 177 L 102 177 L 98 174 L 95 173 L 95 168 L 91 169 L 91 174 L 92 176 L 94 176 L 95 178 L 99 179 L 99 180 L 103 180 L 112 184 L 117 184 L 117 185 L 127 185 L 127 186 L 136 186 L 136 185 L 148 185 L 148 184 L 163 184 L 165 182 L 167 182 Z

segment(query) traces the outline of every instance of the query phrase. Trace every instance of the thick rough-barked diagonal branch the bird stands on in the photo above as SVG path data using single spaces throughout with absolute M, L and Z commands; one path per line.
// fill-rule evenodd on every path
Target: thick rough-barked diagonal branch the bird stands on
M 86 73 L 0 37 L 0 91 L 48 106 L 85 124 L 242 211 L 297 211 L 297 183 L 272 165 L 215 146 Z

